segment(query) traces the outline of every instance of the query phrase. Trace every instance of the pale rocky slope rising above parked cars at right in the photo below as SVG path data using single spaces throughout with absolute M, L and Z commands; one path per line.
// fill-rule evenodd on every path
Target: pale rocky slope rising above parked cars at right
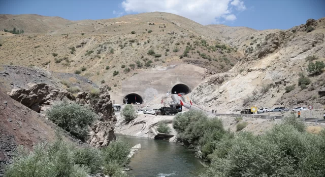
M 252 105 L 323 109 L 325 73 L 310 74 L 307 57 L 317 56 L 313 62 L 325 61 L 324 34 L 325 18 L 268 34 L 261 46 L 229 72 L 206 78 L 192 91 L 191 99 L 218 112 L 236 112 Z M 300 73 L 311 81 L 306 88 L 299 86 Z M 288 85 L 295 89 L 286 92 Z

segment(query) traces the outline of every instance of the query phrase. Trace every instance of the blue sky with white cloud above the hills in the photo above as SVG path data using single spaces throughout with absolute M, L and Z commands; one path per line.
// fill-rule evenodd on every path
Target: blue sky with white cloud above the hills
M 143 12 L 169 12 L 203 25 L 289 29 L 325 17 L 322 0 L 0 0 L 0 14 L 39 14 L 69 20 L 108 19 Z

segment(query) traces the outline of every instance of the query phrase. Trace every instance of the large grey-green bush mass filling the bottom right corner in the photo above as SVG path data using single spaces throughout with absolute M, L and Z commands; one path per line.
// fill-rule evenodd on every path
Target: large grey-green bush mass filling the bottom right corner
M 263 135 L 239 132 L 223 138 L 200 176 L 323 176 L 325 138 L 301 125 L 291 118 Z

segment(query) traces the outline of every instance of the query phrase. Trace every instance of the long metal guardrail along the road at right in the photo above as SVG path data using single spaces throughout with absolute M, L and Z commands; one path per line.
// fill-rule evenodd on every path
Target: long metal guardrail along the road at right
M 257 115 L 257 114 L 214 114 L 216 116 L 222 117 L 252 117 L 252 118 L 262 118 L 262 119 L 283 119 L 286 118 L 284 116 L 272 116 L 272 115 Z M 297 118 L 303 122 L 315 122 L 315 123 L 325 123 L 325 119 L 315 119 L 315 118 Z

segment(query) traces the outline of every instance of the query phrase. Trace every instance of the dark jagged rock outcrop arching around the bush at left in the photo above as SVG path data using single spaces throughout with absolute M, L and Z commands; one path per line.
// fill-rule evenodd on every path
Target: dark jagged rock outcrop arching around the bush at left
M 30 84 L 28 89 L 13 89 L 11 98 L 36 111 L 45 113 L 54 103 L 63 99 L 87 105 L 96 112 L 100 119 L 89 127 L 90 140 L 88 143 L 95 147 L 107 146 L 115 139 L 114 127 L 116 118 L 113 105 L 108 94 L 108 87 L 101 88 L 99 98 L 91 98 L 89 93 L 80 92 L 73 96 L 65 90 L 59 90 L 45 83 Z

